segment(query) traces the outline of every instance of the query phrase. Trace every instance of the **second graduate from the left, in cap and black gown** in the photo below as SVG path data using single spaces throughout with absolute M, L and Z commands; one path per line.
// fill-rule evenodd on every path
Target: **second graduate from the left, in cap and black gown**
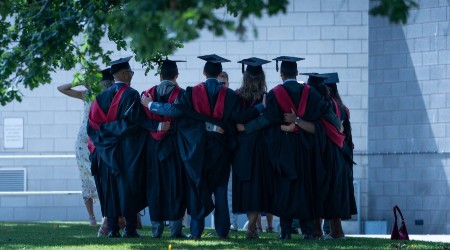
M 165 59 L 160 62 L 161 82 L 143 94 L 156 102 L 173 103 L 184 90 L 178 86 L 177 62 Z M 147 197 L 153 238 L 160 238 L 164 221 L 170 221 L 171 237 L 181 238 L 182 218 L 186 210 L 186 174 L 181 159 L 176 135 L 176 119 L 150 113 L 144 106 L 150 120 L 160 122 L 158 131 L 150 131 L 147 143 L 149 164 Z

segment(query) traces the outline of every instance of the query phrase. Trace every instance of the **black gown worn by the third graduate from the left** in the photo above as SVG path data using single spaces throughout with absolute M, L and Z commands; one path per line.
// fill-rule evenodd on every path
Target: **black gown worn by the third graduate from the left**
M 221 85 L 216 79 L 208 79 L 200 84 L 206 87 L 210 110 L 213 111 Z M 201 220 L 211 213 L 214 209 L 211 198 L 213 190 L 228 183 L 232 152 L 236 145 L 235 122 L 241 119 L 240 112 L 237 111 L 238 102 L 236 93 L 227 89 L 221 120 L 195 112 L 192 87 L 186 88 L 185 94 L 176 104 L 186 114 L 178 120 L 177 131 L 180 153 L 188 177 L 187 211 L 193 219 Z M 248 112 L 253 117 L 258 114 L 256 108 Z M 247 114 L 243 115 L 245 116 Z M 222 127 L 225 133 L 206 131 L 205 121 Z

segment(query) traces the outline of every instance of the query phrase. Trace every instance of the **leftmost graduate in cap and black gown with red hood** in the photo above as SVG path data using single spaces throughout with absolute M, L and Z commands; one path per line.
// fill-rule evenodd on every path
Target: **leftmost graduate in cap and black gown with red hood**
M 121 237 L 118 217 L 126 218 L 123 237 L 139 237 L 137 213 L 147 206 L 146 170 L 143 157 L 148 133 L 139 93 L 130 87 L 133 71 L 121 58 L 111 63 L 115 84 L 91 105 L 87 132 L 95 146 L 91 160 L 99 175 L 99 200 L 108 218 L 108 236 Z

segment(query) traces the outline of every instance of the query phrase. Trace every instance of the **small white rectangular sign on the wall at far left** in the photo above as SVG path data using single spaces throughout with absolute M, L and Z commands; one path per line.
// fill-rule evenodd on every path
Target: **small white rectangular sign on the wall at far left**
M 3 147 L 23 148 L 23 118 L 3 120 Z

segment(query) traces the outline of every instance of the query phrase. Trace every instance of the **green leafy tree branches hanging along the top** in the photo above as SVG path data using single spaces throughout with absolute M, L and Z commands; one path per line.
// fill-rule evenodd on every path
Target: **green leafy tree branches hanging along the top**
M 386 1 L 411 2 L 382 0 L 382 6 Z M 21 101 L 19 86 L 48 84 L 51 72 L 60 69 L 79 69 L 74 85 L 98 82 L 99 65 L 109 64 L 112 54 L 100 46 L 102 39 L 117 50 L 131 49 L 147 73 L 201 30 L 217 36 L 230 30 L 242 38 L 249 17 L 285 13 L 287 5 L 288 0 L 0 0 L 0 104 Z M 395 7 L 394 14 L 407 10 Z M 95 94 L 99 88 L 93 85 Z

